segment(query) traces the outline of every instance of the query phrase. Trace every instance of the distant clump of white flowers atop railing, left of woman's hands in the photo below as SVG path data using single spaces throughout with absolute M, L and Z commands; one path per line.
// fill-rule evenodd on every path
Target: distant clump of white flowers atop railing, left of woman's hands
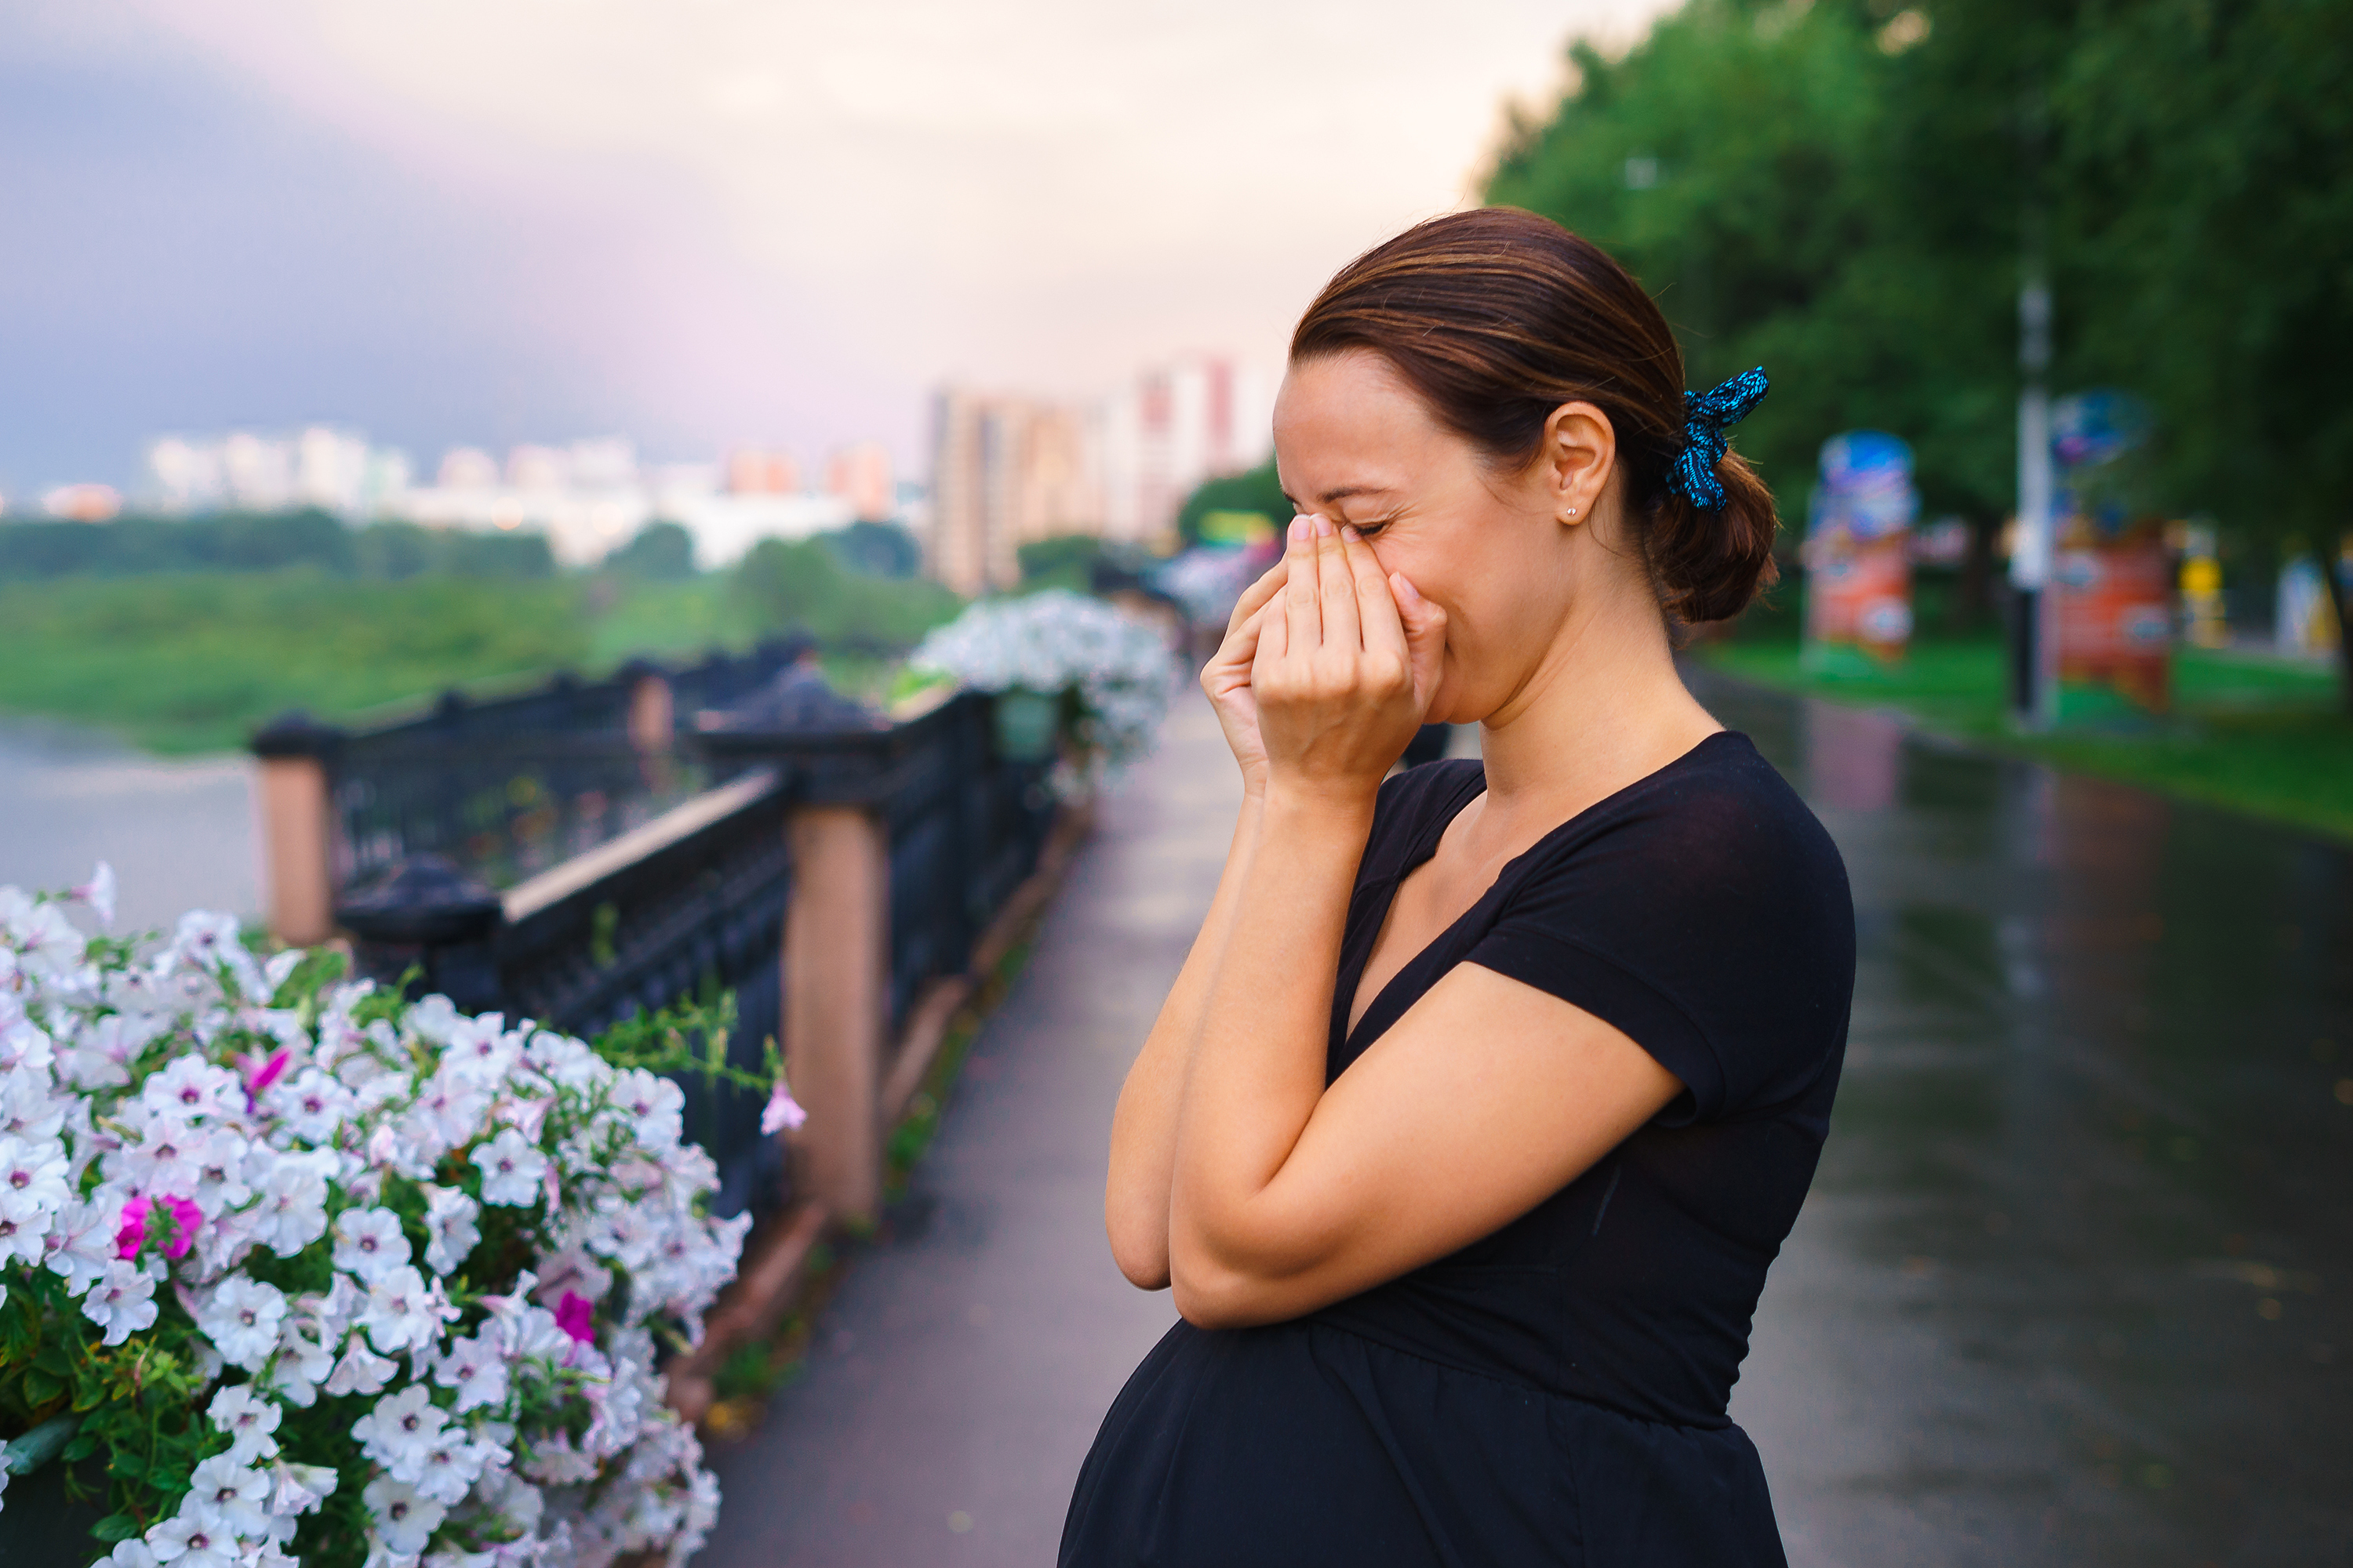
M 1068 588 L 981 599 L 934 628 L 911 663 L 974 691 L 1075 693 L 1073 741 L 1085 762 L 1061 769 L 1064 792 L 1146 757 L 1176 684 L 1176 661 L 1160 632 Z

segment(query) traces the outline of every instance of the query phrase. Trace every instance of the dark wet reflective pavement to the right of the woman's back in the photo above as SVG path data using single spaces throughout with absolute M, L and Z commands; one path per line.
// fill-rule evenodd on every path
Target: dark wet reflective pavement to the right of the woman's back
M 1732 1403 L 1791 1561 L 2353 1563 L 2353 851 L 1694 686 L 1854 882 Z

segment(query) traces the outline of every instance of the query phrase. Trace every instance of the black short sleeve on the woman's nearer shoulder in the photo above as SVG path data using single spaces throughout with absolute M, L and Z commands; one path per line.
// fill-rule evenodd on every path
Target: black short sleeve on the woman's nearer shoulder
M 1626 1032 L 1685 1093 L 1668 1124 L 1807 1093 L 1854 994 L 1845 865 L 1741 736 L 1544 846 L 1466 961 Z M 1577 827 L 1577 825 L 1572 825 Z

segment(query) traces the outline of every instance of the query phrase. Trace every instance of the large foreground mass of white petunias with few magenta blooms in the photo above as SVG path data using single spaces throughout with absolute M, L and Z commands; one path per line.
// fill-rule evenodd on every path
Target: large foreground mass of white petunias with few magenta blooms
M 104 1462 L 118 1568 L 682 1563 L 718 1483 L 656 1347 L 751 1220 L 706 1213 L 680 1088 L 224 914 L 85 938 L 111 896 L 0 889 L 14 1467 Z

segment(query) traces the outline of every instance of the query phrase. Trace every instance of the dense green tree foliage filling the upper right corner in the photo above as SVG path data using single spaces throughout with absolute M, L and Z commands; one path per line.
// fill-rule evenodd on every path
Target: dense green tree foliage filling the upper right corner
M 2054 390 L 2158 416 L 2146 501 L 2325 548 L 2353 491 L 2341 0 L 1692 0 L 1522 122 L 1487 200 L 1617 254 L 1697 386 L 1765 364 L 1741 449 L 1800 512 L 1819 442 L 1911 440 L 1922 501 L 2014 505 L 2017 299 Z M 2353 651 L 2348 651 L 2353 689 Z

